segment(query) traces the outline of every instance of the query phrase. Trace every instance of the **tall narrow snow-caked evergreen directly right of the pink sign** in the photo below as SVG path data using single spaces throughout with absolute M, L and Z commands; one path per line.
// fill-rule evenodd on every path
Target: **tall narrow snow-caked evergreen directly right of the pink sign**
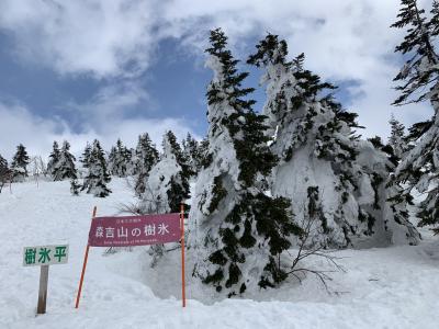
M 227 37 L 211 32 L 206 65 L 214 72 L 207 88 L 209 156 L 199 174 L 190 213 L 194 275 L 227 296 L 274 286 L 286 277 L 279 256 L 299 234 L 290 203 L 272 198 L 258 185 L 277 162 L 267 147 L 263 117 L 243 88 Z

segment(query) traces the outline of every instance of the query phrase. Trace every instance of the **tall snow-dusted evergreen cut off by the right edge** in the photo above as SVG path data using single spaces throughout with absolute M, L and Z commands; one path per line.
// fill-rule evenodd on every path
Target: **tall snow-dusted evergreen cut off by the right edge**
M 406 29 L 404 41 L 395 48 L 407 59 L 395 81 L 401 95 L 395 105 L 428 101 L 432 117 L 409 128 L 408 139 L 414 147 L 407 151 L 395 171 L 395 181 L 405 183 L 399 198 L 409 196 L 413 189 L 427 196 L 420 204 L 419 225 L 439 223 L 439 59 L 435 48 L 439 33 L 439 4 L 434 1 L 431 19 L 416 0 L 403 0 L 397 21 L 392 25 Z M 439 231 L 439 229 L 437 230 Z

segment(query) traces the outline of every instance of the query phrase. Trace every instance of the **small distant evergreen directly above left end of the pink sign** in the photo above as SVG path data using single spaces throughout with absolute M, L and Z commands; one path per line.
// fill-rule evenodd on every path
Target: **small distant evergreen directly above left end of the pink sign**
M 81 190 L 87 190 L 87 193 L 99 197 L 109 195 L 111 190 L 106 184 L 111 181 L 111 177 L 106 170 L 104 151 L 97 139 L 93 141 L 93 147 L 88 157 L 87 169 L 88 172 Z

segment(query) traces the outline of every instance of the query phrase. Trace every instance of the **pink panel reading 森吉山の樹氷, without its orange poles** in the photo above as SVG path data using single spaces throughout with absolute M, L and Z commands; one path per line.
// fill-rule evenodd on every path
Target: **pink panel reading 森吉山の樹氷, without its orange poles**
M 180 214 L 94 217 L 89 232 L 91 247 L 127 247 L 179 241 Z

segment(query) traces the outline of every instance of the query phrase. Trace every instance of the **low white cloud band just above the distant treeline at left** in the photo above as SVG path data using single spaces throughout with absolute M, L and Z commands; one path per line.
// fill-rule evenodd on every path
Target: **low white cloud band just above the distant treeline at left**
M 26 147 L 30 156 L 41 155 L 46 158 L 54 140 L 67 139 L 71 144 L 72 152 L 80 155 L 87 141 L 92 141 L 94 138 L 101 140 L 105 149 L 110 149 L 117 137 L 121 137 L 128 147 L 135 147 L 138 135 L 145 132 L 159 148 L 162 135 L 168 129 L 171 129 L 180 140 L 188 132 L 199 138 L 190 123 L 169 117 L 106 120 L 101 126 L 90 126 L 80 134 L 71 132 L 66 122 L 37 117 L 21 104 L 0 103 L 0 146 L 2 156 L 8 161 L 11 160 L 19 144 Z

